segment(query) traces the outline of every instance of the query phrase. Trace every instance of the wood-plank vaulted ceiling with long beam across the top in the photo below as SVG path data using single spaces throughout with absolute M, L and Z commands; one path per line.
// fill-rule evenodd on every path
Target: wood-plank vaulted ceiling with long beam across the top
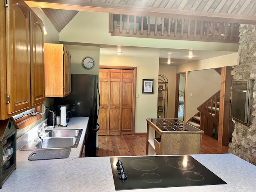
M 256 0 L 25 0 L 60 32 L 78 11 L 256 24 Z

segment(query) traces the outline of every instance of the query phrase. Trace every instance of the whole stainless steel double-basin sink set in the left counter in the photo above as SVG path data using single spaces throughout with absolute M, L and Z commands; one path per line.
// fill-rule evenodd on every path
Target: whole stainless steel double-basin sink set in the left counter
M 44 136 L 34 138 L 20 150 L 38 150 L 52 148 L 77 147 L 82 129 L 51 129 L 45 130 Z

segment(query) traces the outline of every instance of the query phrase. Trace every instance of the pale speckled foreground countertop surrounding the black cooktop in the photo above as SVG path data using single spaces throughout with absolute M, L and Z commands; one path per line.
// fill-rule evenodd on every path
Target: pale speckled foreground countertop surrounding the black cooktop
M 69 127 L 70 128 L 70 127 Z M 78 128 L 78 127 L 76 127 Z M 4 192 L 113 192 L 110 157 L 28 161 L 32 151 L 18 151 L 17 169 L 2 186 Z M 233 154 L 191 155 L 227 184 L 125 190 L 126 192 L 254 192 L 256 166 Z M 0 190 L 1 191 L 1 190 Z M 124 190 L 122 190 L 124 191 Z

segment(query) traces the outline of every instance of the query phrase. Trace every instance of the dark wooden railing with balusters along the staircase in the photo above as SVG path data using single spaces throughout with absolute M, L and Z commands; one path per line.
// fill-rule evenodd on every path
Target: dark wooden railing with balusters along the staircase
M 204 116 L 213 122 L 216 126 L 219 124 L 219 110 L 218 110 L 218 98 L 220 97 L 220 90 L 201 104 L 197 110 L 201 112 L 201 118 Z M 200 128 L 203 130 L 204 128 Z

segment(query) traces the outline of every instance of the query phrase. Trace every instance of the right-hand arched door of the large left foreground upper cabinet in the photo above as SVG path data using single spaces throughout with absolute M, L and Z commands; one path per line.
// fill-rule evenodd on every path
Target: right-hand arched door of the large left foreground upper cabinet
M 30 11 L 31 105 L 44 102 L 44 26 Z

